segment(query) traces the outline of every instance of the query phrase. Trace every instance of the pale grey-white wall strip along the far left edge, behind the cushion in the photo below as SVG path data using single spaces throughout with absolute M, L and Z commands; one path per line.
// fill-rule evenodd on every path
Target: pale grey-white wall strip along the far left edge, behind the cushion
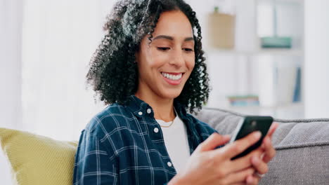
M 0 127 L 21 123 L 22 0 L 0 0 Z M 9 164 L 0 152 L 0 184 L 11 184 Z

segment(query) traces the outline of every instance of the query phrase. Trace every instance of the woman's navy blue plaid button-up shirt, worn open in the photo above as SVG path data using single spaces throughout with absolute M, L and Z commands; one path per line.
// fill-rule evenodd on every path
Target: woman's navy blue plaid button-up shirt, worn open
M 206 123 L 174 103 L 186 124 L 190 151 L 213 132 Z M 111 104 L 82 130 L 73 184 L 166 184 L 176 170 L 167 153 L 153 109 L 131 95 L 125 105 Z

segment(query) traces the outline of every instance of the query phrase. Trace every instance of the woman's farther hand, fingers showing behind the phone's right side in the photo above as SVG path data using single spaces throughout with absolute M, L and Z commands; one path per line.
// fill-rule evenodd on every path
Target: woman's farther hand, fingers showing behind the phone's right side
M 269 163 L 269 161 L 276 155 L 276 150 L 271 143 L 272 136 L 276 128 L 278 128 L 278 123 L 273 123 L 268 134 L 264 137 L 262 146 L 257 149 L 257 151 L 262 154 L 260 156 L 253 154 L 254 156 L 251 158 L 251 163 L 256 170 L 256 173 L 250 174 L 247 177 L 247 184 L 258 184 L 259 180 L 262 178 L 259 174 L 266 174 L 269 171 L 267 163 Z

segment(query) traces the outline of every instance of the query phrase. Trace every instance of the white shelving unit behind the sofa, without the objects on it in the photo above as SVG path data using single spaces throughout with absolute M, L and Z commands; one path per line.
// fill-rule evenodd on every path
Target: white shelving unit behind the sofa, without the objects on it
M 248 0 L 237 3 L 236 37 L 232 49 L 215 48 L 210 44 L 214 36 L 209 34 L 209 44 L 204 45 L 209 76 L 213 81 L 213 101 L 209 103 L 209 108 L 241 114 L 272 115 L 276 118 L 303 117 L 303 102 L 234 107 L 227 99 L 227 95 L 262 92 L 262 99 L 265 99 L 263 102 L 269 101 L 272 96 L 280 102 L 280 98 L 282 101 L 286 99 L 277 90 L 280 89 L 282 93 L 283 90 L 288 92 L 289 88 L 291 93 L 291 88 L 294 88 L 295 94 L 297 77 L 300 81 L 298 83 L 304 84 L 304 0 L 276 0 L 276 24 L 273 24 L 272 2 Z M 259 8 L 263 8 L 264 13 L 259 12 Z M 277 34 L 273 30 L 275 25 L 278 28 Z M 290 36 L 292 48 L 262 48 L 261 38 L 273 35 Z M 300 88 L 300 95 L 304 94 L 303 90 Z M 300 100 L 304 101 L 302 97 Z

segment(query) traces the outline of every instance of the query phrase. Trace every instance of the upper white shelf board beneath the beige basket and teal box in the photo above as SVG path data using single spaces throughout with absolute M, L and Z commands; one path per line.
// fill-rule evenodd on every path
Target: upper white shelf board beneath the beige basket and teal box
M 205 49 L 206 52 L 212 54 L 219 54 L 219 55 L 245 55 L 245 56 L 252 56 L 252 55 L 287 55 L 287 56 L 302 56 L 303 51 L 298 49 L 285 49 L 285 48 L 263 48 L 259 50 L 250 50 L 250 51 L 243 51 L 243 50 L 222 50 L 217 48 L 207 48 Z

